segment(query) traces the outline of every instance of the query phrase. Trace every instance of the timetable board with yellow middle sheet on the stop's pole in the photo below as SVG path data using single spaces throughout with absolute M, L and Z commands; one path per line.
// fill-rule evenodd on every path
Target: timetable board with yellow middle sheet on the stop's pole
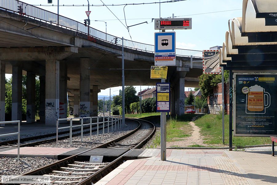
M 156 95 L 156 111 L 170 112 L 170 83 L 157 83 Z

